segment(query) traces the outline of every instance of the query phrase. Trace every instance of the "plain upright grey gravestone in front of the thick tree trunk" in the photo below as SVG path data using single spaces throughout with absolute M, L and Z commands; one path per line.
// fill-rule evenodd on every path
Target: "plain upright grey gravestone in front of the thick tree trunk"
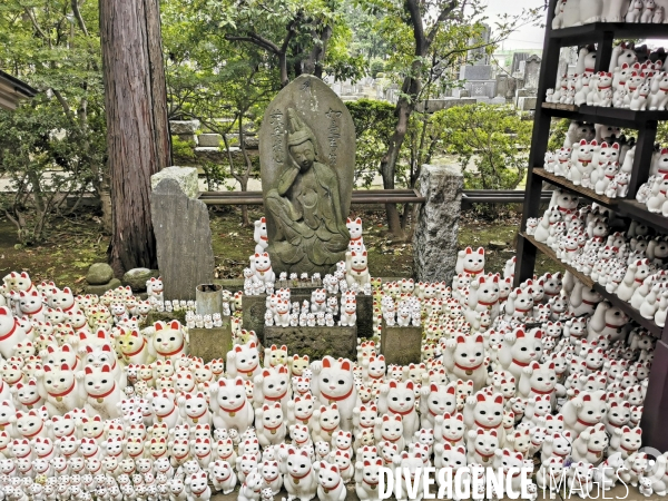
M 178 180 L 165 170 L 151 176 L 161 179 L 150 194 L 150 213 L 165 284 L 165 299 L 195 299 L 195 287 L 214 279 L 214 250 L 208 209 L 204 202 L 188 196 L 181 186 L 197 183 L 197 169 L 180 168 Z M 184 178 L 187 171 L 188 178 Z

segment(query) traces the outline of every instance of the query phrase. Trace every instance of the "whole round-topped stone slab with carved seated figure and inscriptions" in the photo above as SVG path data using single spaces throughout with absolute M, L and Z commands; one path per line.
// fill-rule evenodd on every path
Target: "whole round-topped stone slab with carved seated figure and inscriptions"
M 302 75 L 267 107 L 259 130 L 267 252 L 277 274 L 332 273 L 345 258 L 355 128 L 321 79 Z

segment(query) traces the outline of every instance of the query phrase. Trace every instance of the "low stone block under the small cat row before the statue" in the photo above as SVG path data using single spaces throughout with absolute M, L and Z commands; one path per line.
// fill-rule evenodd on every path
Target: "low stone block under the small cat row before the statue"
M 265 346 L 287 346 L 289 354 L 308 355 L 311 360 L 331 355 L 356 360 L 357 327 L 265 327 Z

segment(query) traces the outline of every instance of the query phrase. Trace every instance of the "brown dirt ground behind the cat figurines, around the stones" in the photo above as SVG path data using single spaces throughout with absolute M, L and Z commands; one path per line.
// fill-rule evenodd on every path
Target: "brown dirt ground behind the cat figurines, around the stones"
M 262 216 L 259 208 L 250 210 L 250 220 Z M 364 222 L 364 242 L 369 250 L 369 265 L 373 276 L 410 277 L 413 275 L 412 245 L 394 242 L 387 236 L 383 212 L 358 214 Z M 459 245 L 487 249 L 488 272 L 502 272 L 505 262 L 514 255 L 519 217 L 504 215 L 489 222 L 466 212 L 462 216 Z M 248 264 L 255 247 L 253 228 L 240 226 L 240 210 L 227 207 L 212 212 L 212 235 L 219 278 L 237 278 Z M 495 248 L 491 242 L 504 244 Z M 56 222 L 49 242 L 22 247 L 14 226 L 0 217 L 0 277 L 12 271 L 26 271 L 33 281 L 52 279 L 59 286 L 75 291 L 84 286 L 88 267 L 106 261 L 109 237 L 102 235 L 97 218 L 85 215 L 76 219 Z M 537 272 L 556 271 L 556 266 L 539 256 Z

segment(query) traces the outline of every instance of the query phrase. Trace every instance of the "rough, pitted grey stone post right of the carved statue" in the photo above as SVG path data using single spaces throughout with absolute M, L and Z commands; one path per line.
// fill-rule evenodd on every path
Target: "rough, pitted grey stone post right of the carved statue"
M 423 165 L 418 190 L 426 198 L 413 234 L 415 275 L 422 282 L 452 282 L 464 178 L 453 165 Z

